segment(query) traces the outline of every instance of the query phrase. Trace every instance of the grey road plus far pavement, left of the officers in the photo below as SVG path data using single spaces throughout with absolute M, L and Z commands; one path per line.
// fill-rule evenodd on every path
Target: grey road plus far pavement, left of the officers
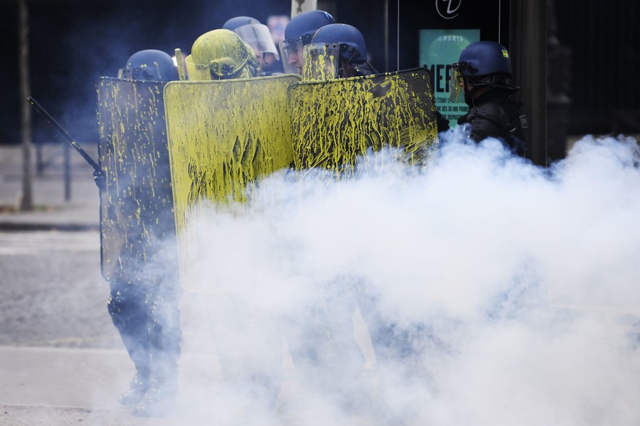
M 95 147 L 85 150 L 97 158 Z M 71 152 L 67 200 L 62 148 L 43 146 L 41 155 L 49 163 L 33 176 L 34 209 L 18 212 L 21 148 L 0 146 L 0 425 L 175 425 L 117 404 L 134 369 L 107 313 L 92 169 Z M 206 324 L 190 312 L 181 380 L 197 391 L 219 379 Z

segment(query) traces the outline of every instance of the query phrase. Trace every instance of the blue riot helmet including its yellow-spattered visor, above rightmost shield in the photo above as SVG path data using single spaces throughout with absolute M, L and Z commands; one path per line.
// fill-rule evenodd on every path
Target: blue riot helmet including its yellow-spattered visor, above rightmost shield
M 358 77 L 361 75 L 377 74 L 378 71 L 367 60 L 367 45 L 364 37 L 358 28 L 346 23 L 331 23 L 319 28 L 311 40 L 309 48 L 307 48 L 306 58 L 314 58 L 310 60 L 309 77 L 313 80 L 316 73 L 312 68 L 321 63 L 324 71 L 327 72 L 327 59 L 333 52 L 336 52 L 339 60 L 333 61 L 336 65 L 335 77 Z M 329 56 L 327 55 L 329 53 Z M 305 68 L 306 67 L 305 58 Z M 321 59 L 319 62 L 317 59 Z M 330 74 L 330 73 L 329 73 Z M 328 75 L 330 77 L 330 75 Z

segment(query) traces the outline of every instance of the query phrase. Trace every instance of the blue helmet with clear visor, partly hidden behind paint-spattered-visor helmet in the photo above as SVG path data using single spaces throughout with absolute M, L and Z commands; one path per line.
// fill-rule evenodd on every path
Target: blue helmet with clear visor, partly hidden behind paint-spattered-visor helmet
M 280 42 L 284 72 L 302 75 L 303 48 L 311 43 L 318 28 L 336 23 L 326 11 L 314 10 L 294 16 L 284 28 L 284 40 Z

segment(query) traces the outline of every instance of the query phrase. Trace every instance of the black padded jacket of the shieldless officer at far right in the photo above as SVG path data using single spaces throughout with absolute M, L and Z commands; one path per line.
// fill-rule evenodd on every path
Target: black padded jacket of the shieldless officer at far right
M 476 142 L 493 137 L 501 139 L 516 155 L 526 156 L 527 117 L 522 103 L 513 102 L 503 89 L 490 89 L 474 99 L 474 106 L 458 119 L 466 124 L 466 134 Z

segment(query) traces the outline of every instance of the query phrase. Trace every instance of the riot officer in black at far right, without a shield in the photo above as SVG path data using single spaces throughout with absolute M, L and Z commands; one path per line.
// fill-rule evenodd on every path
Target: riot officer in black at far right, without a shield
M 466 46 L 452 65 L 451 94 L 457 96 L 462 87 L 469 112 L 458 124 L 469 138 L 476 142 L 498 138 L 513 153 L 525 157 L 527 117 L 521 102 L 511 99 L 520 89 L 512 78 L 506 48 L 494 41 L 478 41 Z

